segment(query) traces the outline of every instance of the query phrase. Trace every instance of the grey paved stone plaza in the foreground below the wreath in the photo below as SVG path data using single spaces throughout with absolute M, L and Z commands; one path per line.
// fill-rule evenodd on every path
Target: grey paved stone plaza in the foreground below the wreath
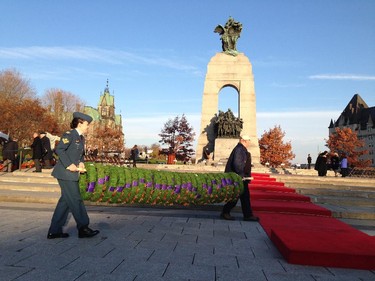
M 54 204 L 0 202 L 0 280 L 375 280 L 374 271 L 288 264 L 259 223 L 217 210 L 88 206 L 100 234 L 46 239 Z

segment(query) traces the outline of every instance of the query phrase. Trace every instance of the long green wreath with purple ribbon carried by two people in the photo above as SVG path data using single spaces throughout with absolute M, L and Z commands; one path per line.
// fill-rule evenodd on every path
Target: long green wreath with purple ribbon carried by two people
M 86 163 L 79 180 L 84 200 L 115 204 L 205 205 L 243 192 L 235 173 L 181 173 Z

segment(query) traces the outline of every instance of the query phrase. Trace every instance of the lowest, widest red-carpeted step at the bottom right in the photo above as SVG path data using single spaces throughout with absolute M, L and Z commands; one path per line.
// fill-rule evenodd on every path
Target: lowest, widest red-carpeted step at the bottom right
M 375 269 L 375 237 L 335 218 L 265 212 L 256 215 L 289 263 Z

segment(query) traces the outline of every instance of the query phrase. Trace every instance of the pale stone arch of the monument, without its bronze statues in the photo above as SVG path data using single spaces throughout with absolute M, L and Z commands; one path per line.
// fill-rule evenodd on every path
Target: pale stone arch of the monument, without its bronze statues
M 222 151 L 224 148 L 221 149 L 218 144 L 215 145 L 214 135 L 214 117 L 218 113 L 219 92 L 224 87 L 232 87 L 238 92 L 238 116 L 243 121 L 241 134 L 251 137 L 252 161 L 254 164 L 259 164 L 260 150 L 256 131 L 254 77 L 251 63 L 243 53 L 239 53 L 237 56 L 217 53 L 208 63 L 203 90 L 201 127 L 196 149 L 197 162 L 202 159 L 205 147 L 208 147 L 215 162 L 220 160 L 215 155 L 222 157 L 227 154 L 228 148 Z M 232 111 L 236 110 L 232 109 Z M 226 158 L 228 157 L 229 154 Z

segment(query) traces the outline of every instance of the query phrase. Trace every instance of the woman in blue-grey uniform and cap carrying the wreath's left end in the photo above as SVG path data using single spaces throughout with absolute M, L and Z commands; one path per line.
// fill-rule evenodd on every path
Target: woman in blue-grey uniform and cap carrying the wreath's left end
M 52 176 L 60 185 L 61 197 L 52 216 L 47 234 L 48 239 L 69 237 L 68 233 L 63 232 L 69 212 L 73 214 L 76 221 L 79 238 L 89 238 L 99 233 L 99 230 L 92 230 L 88 227 L 90 220 L 78 184 L 79 174 L 85 171 L 83 135 L 87 133 L 91 121 L 91 116 L 74 112 L 70 124 L 72 129 L 63 134 L 56 147 L 59 159 L 52 171 Z

